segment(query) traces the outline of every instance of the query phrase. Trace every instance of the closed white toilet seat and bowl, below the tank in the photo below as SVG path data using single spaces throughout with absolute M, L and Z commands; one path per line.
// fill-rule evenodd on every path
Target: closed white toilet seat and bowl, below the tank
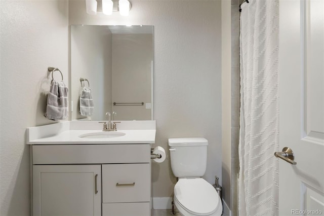
M 181 178 L 174 188 L 176 203 L 192 215 L 216 215 L 222 203 L 215 188 L 203 178 Z

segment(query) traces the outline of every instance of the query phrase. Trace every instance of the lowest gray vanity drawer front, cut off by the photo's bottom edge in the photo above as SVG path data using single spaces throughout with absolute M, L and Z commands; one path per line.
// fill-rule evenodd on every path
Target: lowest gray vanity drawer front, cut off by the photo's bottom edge
M 149 216 L 149 202 L 103 203 L 103 216 Z

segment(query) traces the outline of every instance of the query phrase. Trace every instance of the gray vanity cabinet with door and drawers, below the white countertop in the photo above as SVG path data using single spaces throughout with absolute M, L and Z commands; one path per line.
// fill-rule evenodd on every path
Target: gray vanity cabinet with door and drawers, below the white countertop
M 150 144 L 33 145 L 33 215 L 150 215 Z

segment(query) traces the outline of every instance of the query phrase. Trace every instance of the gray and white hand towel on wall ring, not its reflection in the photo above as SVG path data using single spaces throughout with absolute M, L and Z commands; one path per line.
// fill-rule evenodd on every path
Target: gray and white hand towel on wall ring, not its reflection
M 63 81 L 52 81 L 45 116 L 51 120 L 64 120 L 68 117 L 68 88 Z

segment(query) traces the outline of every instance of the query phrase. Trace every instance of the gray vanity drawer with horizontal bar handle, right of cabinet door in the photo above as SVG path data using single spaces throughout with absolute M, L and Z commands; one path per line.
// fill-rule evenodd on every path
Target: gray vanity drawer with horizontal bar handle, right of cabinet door
M 103 164 L 103 203 L 149 202 L 150 164 Z

